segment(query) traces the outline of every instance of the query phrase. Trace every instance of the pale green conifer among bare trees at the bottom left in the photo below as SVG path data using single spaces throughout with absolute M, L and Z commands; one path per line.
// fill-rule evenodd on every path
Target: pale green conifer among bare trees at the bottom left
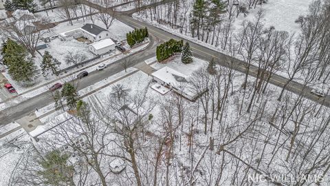
M 73 183 L 74 167 L 68 165 L 69 155 L 54 150 L 39 161 L 42 169 L 37 172 L 46 185 Z M 70 184 L 71 185 L 71 184 Z

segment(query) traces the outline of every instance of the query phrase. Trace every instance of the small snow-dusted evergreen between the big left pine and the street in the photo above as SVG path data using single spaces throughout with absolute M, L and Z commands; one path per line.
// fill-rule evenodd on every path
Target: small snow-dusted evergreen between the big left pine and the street
M 60 68 L 60 65 L 60 61 L 54 59 L 50 52 L 45 51 L 45 54 L 43 54 L 43 61 L 41 62 L 41 71 L 43 76 L 48 76 L 50 71 L 52 74 L 58 76 L 58 69 Z

